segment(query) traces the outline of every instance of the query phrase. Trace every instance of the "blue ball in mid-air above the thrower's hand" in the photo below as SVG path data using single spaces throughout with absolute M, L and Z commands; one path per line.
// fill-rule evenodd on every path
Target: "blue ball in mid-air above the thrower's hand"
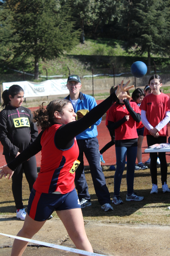
M 133 76 L 140 78 L 147 73 L 147 66 L 142 61 L 136 61 L 132 64 L 130 71 Z

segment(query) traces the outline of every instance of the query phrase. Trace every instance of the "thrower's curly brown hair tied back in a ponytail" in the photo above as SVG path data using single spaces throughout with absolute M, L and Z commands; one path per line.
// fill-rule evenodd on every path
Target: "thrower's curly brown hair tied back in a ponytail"
M 63 108 L 66 107 L 68 103 L 71 103 L 70 100 L 66 99 L 56 99 L 52 100 L 48 106 L 45 108 L 43 106 L 45 102 L 39 106 L 40 108 L 33 111 L 33 122 L 37 123 L 37 127 L 41 127 L 42 130 L 55 124 L 54 113 L 58 111 L 63 114 Z

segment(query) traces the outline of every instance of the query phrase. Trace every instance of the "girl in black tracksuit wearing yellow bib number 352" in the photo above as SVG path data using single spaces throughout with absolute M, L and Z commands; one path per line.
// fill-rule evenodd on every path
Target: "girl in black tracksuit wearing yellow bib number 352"
M 10 163 L 38 136 L 36 125 L 32 121 L 31 110 L 22 107 L 24 91 L 19 85 L 12 85 L 2 94 L 4 100 L 0 112 L 0 140 L 6 163 Z M 17 218 L 25 220 L 26 212 L 22 202 L 23 171 L 30 191 L 37 178 L 35 156 L 20 164 L 12 176 L 12 193 L 17 208 Z

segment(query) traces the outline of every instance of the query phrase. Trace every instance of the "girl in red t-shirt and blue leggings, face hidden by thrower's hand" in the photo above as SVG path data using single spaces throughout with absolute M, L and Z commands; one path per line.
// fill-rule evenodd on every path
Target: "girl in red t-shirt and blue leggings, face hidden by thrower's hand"
M 117 88 L 115 87 L 115 90 Z M 129 95 L 129 91 L 126 92 Z M 108 113 L 108 129 L 115 129 L 115 151 L 116 151 L 116 171 L 114 177 L 114 197 L 112 203 L 122 204 L 120 197 L 120 186 L 122 174 L 127 157 L 127 196 L 126 201 L 141 201 L 143 196 L 134 193 L 134 173 L 137 157 L 137 130 L 136 122 L 140 122 L 140 113 L 135 102 L 129 100 L 118 100 L 112 105 Z

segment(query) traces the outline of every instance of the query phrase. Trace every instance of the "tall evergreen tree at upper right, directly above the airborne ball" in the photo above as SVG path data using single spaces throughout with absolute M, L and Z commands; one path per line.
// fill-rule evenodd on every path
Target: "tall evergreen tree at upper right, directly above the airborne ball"
M 165 54 L 164 42 L 168 34 L 169 17 L 166 4 L 166 0 L 124 1 L 120 36 L 126 40 L 126 48 L 130 52 L 148 53 L 149 67 L 151 53 Z

